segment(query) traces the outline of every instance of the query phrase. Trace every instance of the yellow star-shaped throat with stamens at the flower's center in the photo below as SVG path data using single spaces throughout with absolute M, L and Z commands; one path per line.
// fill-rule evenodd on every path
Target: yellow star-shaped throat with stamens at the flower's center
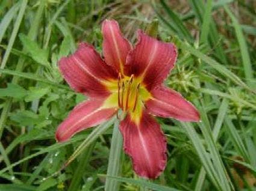
M 142 80 L 133 74 L 131 76 L 119 74 L 117 80 L 105 82 L 105 85 L 112 94 L 102 107 L 120 108 L 123 112 L 129 112 L 131 120 L 139 122 L 145 107 L 144 103 L 151 97 Z

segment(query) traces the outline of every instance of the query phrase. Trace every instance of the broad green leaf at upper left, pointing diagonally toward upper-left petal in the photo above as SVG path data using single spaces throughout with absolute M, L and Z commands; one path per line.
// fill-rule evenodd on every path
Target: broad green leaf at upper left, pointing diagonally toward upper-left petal
M 39 64 L 49 66 L 47 50 L 40 49 L 38 44 L 25 34 L 19 34 L 23 47 L 30 53 L 31 57 Z

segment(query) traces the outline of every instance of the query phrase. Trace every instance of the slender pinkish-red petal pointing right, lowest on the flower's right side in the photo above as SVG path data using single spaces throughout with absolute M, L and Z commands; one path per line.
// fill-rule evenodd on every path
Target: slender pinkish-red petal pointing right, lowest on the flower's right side
M 200 120 L 195 106 L 173 89 L 157 86 L 152 89 L 151 94 L 152 98 L 145 103 L 149 113 L 160 117 L 172 117 L 180 121 Z

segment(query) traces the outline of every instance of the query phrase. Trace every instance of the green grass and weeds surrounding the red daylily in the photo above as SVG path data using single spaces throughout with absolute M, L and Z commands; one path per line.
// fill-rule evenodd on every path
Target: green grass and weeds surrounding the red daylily
M 1 1 L 0 190 L 255 190 L 253 6 L 231 0 Z M 165 83 L 201 112 L 200 123 L 158 118 L 168 159 L 157 180 L 134 174 L 115 117 L 68 142 L 55 141 L 58 124 L 86 99 L 63 81 L 57 61 L 80 41 L 101 52 L 106 18 L 116 19 L 133 43 L 137 29 L 156 35 L 158 26 L 158 38 L 179 49 Z

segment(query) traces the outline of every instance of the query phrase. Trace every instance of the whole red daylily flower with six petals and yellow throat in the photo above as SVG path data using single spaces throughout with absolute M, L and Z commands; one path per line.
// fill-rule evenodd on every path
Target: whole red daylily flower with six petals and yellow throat
M 141 177 L 157 178 L 166 166 L 166 139 L 153 115 L 180 121 L 199 121 L 196 108 L 181 94 L 163 85 L 172 70 L 174 44 L 149 37 L 141 30 L 132 47 L 115 20 L 102 23 L 103 55 L 81 43 L 75 53 L 59 61 L 60 71 L 76 92 L 89 100 L 76 106 L 57 129 L 57 141 L 108 120 L 119 109 L 123 148 Z

